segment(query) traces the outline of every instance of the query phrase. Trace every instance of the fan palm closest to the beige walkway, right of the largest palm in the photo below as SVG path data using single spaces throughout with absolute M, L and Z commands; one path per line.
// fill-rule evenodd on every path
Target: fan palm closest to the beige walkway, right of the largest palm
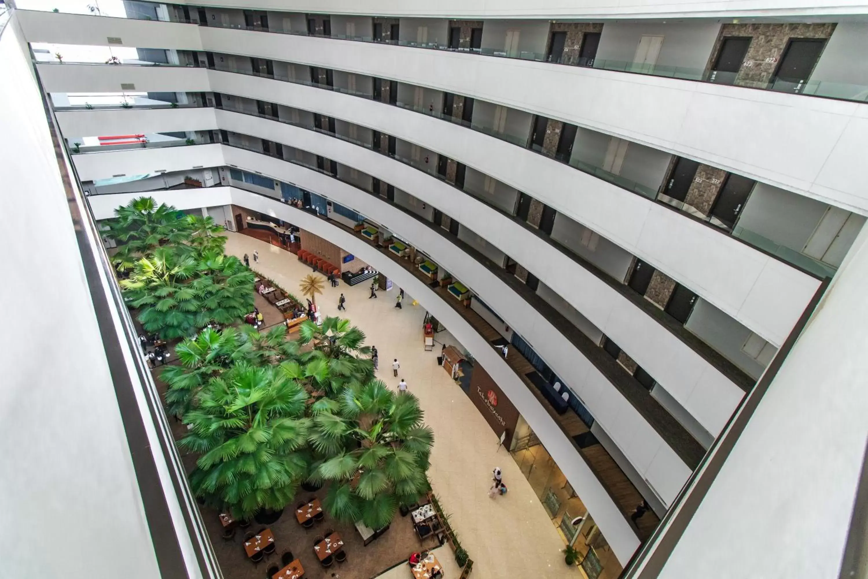
M 312 409 L 310 444 L 328 457 L 312 478 L 332 481 L 323 502 L 332 516 L 382 529 L 399 505 L 416 503 L 428 490 L 434 433 L 415 396 L 371 380 Z

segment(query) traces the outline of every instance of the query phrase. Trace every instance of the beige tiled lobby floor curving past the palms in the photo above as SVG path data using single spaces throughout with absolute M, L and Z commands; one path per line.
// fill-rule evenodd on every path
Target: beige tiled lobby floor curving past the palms
M 260 263 L 256 269 L 286 291 L 299 295 L 299 280 L 311 273 L 310 267 L 292 253 L 264 241 L 231 232 L 227 236 L 227 253 L 240 257 L 258 249 Z M 378 292 L 378 299 L 368 299 L 368 287 L 325 284 L 325 293 L 318 296 L 317 303 L 324 315 L 340 314 L 351 319 L 367 335 L 365 343 L 377 346 L 379 377 L 386 384 L 396 388 L 403 377 L 418 396 L 425 421 L 435 433 L 431 484 L 475 561 L 471 577 L 578 576 L 578 570 L 563 563 L 561 537 L 516 462 L 503 448 L 497 449 L 494 431 L 470 398 L 437 365 L 440 348 L 436 345 L 433 352 L 424 351 L 424 308 L 412 306 L 408 294 L 404 308 L 396 309 L 397 288 Z M 345 313 L 337 311 L 341 292 L 346 297 Z M 457 344 L 448 332 L 438 333 L 436 339 Z M 391 375 L 391 360 L 395 358 L 401 362 L 399 378 Z M 495 466 L 503 470 L 503 481 L 510 491 L 491 499 L 488 489 Z

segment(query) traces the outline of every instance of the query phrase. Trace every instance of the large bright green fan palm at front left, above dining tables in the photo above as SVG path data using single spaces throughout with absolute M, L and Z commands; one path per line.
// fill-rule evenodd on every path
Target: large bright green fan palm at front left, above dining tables
M 195 494 L 245 519 L 292 502 L 307 472 L 305 391 L 273 367 L 242 362 L 209 379 L 196 398 L 184 415 L 190 433 L 179 441 L 201 453 L 189 476 Z

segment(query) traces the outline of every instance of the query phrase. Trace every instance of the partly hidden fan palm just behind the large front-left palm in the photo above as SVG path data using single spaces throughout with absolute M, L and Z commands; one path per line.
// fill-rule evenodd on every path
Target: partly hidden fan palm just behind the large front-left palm
M 196 396 L 208 380 L 247 358 L 247 349 L 240 347 L 240 341 L 233 327 L 222 332 L 206 328 L 195 339 L 185 339 L 177 345 L 175 352 L 181 365 L 165 366 L 160 374 L 160 379 L 168 384 L 169 414 L 181 418 L 194 406 Z

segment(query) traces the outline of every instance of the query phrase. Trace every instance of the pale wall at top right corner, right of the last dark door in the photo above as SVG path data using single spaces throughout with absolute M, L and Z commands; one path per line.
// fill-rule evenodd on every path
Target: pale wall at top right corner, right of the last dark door
M 853 98 L 868 91 L 868 23 L 839 22 L 814 67 L 808 90 L 824 96 Z M 814 87 L 815 83 L 819 86 Z

